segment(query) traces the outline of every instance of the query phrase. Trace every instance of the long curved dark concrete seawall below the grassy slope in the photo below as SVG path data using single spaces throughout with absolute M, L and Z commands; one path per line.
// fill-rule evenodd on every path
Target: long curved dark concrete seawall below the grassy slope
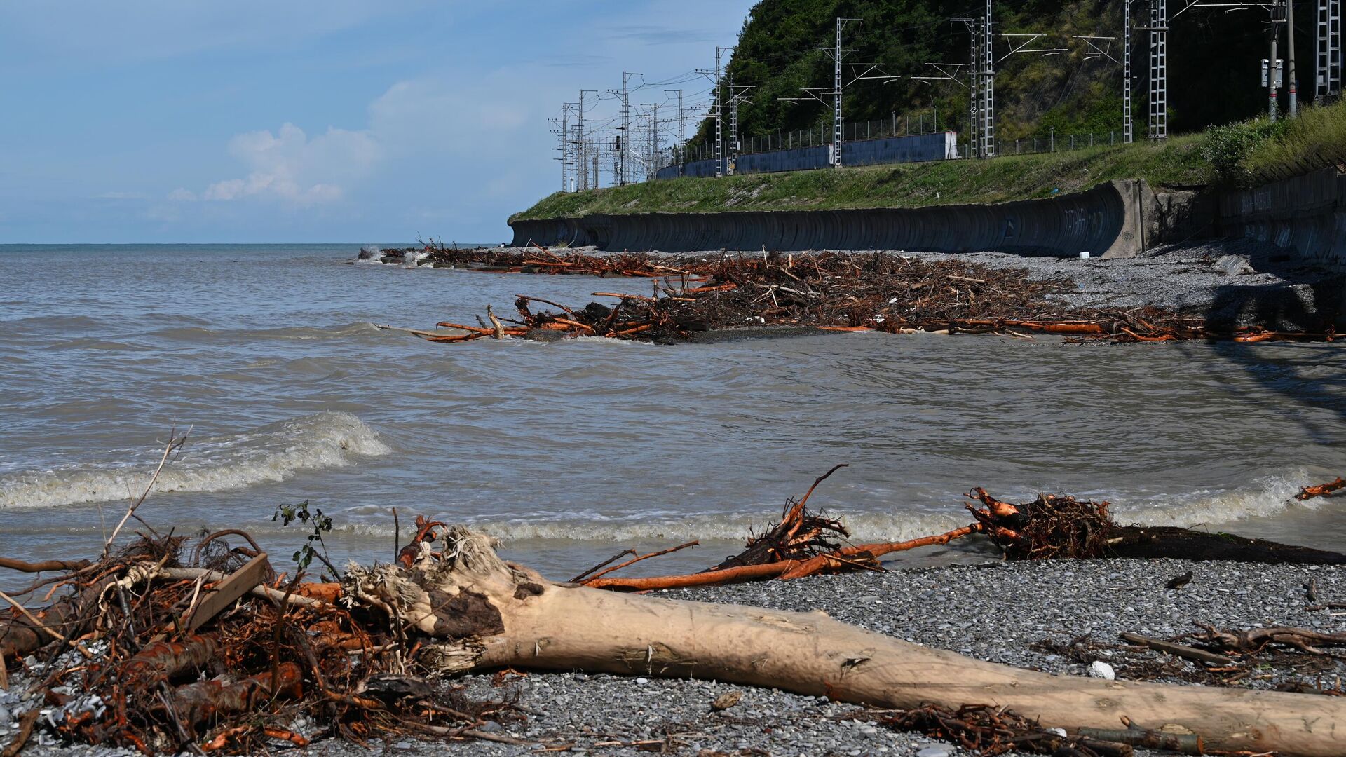
M 915 209 L 596 214 L 511 221 L 514 245 L 606 251 L 906 249 L 1129 257 L 1143 234 L 1140 182 L 1051 199 Z

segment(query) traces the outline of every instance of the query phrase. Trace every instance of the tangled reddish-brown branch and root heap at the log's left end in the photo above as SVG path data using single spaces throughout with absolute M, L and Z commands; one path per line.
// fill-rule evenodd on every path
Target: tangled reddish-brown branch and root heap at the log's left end
M 242 543 L 232 547 L 234 537 Z M 63 599 L 0 617 L 0 659 L 28 668 L 51 730 L 69 741 L 144 754 L 252 753 L 268 739 L 307 746 L 291 730 L 296 719 L 353 742 L 513 741 L 475 730 L 517 717 L 507 703 L 432 691 L 408 675 L 415 651 L 396 624 L 338 603 L 336 585 L 277 577 L 244 532 L 141 536 L 98 562 L 59 567 L 69 572 L 32 590 L 65 587 Z

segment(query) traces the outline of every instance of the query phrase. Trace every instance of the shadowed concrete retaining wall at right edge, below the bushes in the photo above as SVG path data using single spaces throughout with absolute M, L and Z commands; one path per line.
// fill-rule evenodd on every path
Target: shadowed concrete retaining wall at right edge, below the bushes
M 1326 168 L 1226 193 L 1215 225 L 1221 236 L 1272 242 L 1346 273 L 1346 172 Z

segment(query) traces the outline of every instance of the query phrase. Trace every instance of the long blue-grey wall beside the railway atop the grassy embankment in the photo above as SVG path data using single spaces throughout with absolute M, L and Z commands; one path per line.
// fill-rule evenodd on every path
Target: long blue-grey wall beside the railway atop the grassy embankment
M 845 166 L 876 166 L 880 163 L 918 163 L 922 160 L 944 160 L 957 158 L 958 132 L 937 132 L 930 135 L 896 136 L 887 139 L 865 139 L 841 143 L 841 163 Z M 728 160 L 725 160 L 725 170 Z M 798 147 L 794 150 L 773 150 L 739 155 L 734 164 L 735 174 L 775 174 L 781 171 L 812 171 L 830 164 L 830 148 Z M 715 159 L 693 160 L 682 167 L 684 176 L 713 176 Z M 660 168 L 658 179 L 678 176 L 677 166 Z

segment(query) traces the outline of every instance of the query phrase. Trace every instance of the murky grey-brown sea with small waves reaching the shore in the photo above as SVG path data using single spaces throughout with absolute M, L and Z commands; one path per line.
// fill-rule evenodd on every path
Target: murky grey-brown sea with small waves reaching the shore
M 839 463 L 810 505 L 855 540 L 965 524 L 984 486 L 1346 548 L 1343 500 L 1294 498 L 1346 474 L 1338 345 L 440 345 L 376 326 L 650 283 L 351 264 L 363 245 L 0 245 L 0 555 L 97 555 L 175 434 L 187 442 L 137 511 L 148 525 L 128 532 L 238 528 L 280 568 L 311 529 L 277 508 L 307 502 L 331 517 L 336 564 L 390 560 L 423 515 L 555 579 L 690 540 L 633 572 L 699 570 Z M 899 559 L 992 556 L 953 543 Z

